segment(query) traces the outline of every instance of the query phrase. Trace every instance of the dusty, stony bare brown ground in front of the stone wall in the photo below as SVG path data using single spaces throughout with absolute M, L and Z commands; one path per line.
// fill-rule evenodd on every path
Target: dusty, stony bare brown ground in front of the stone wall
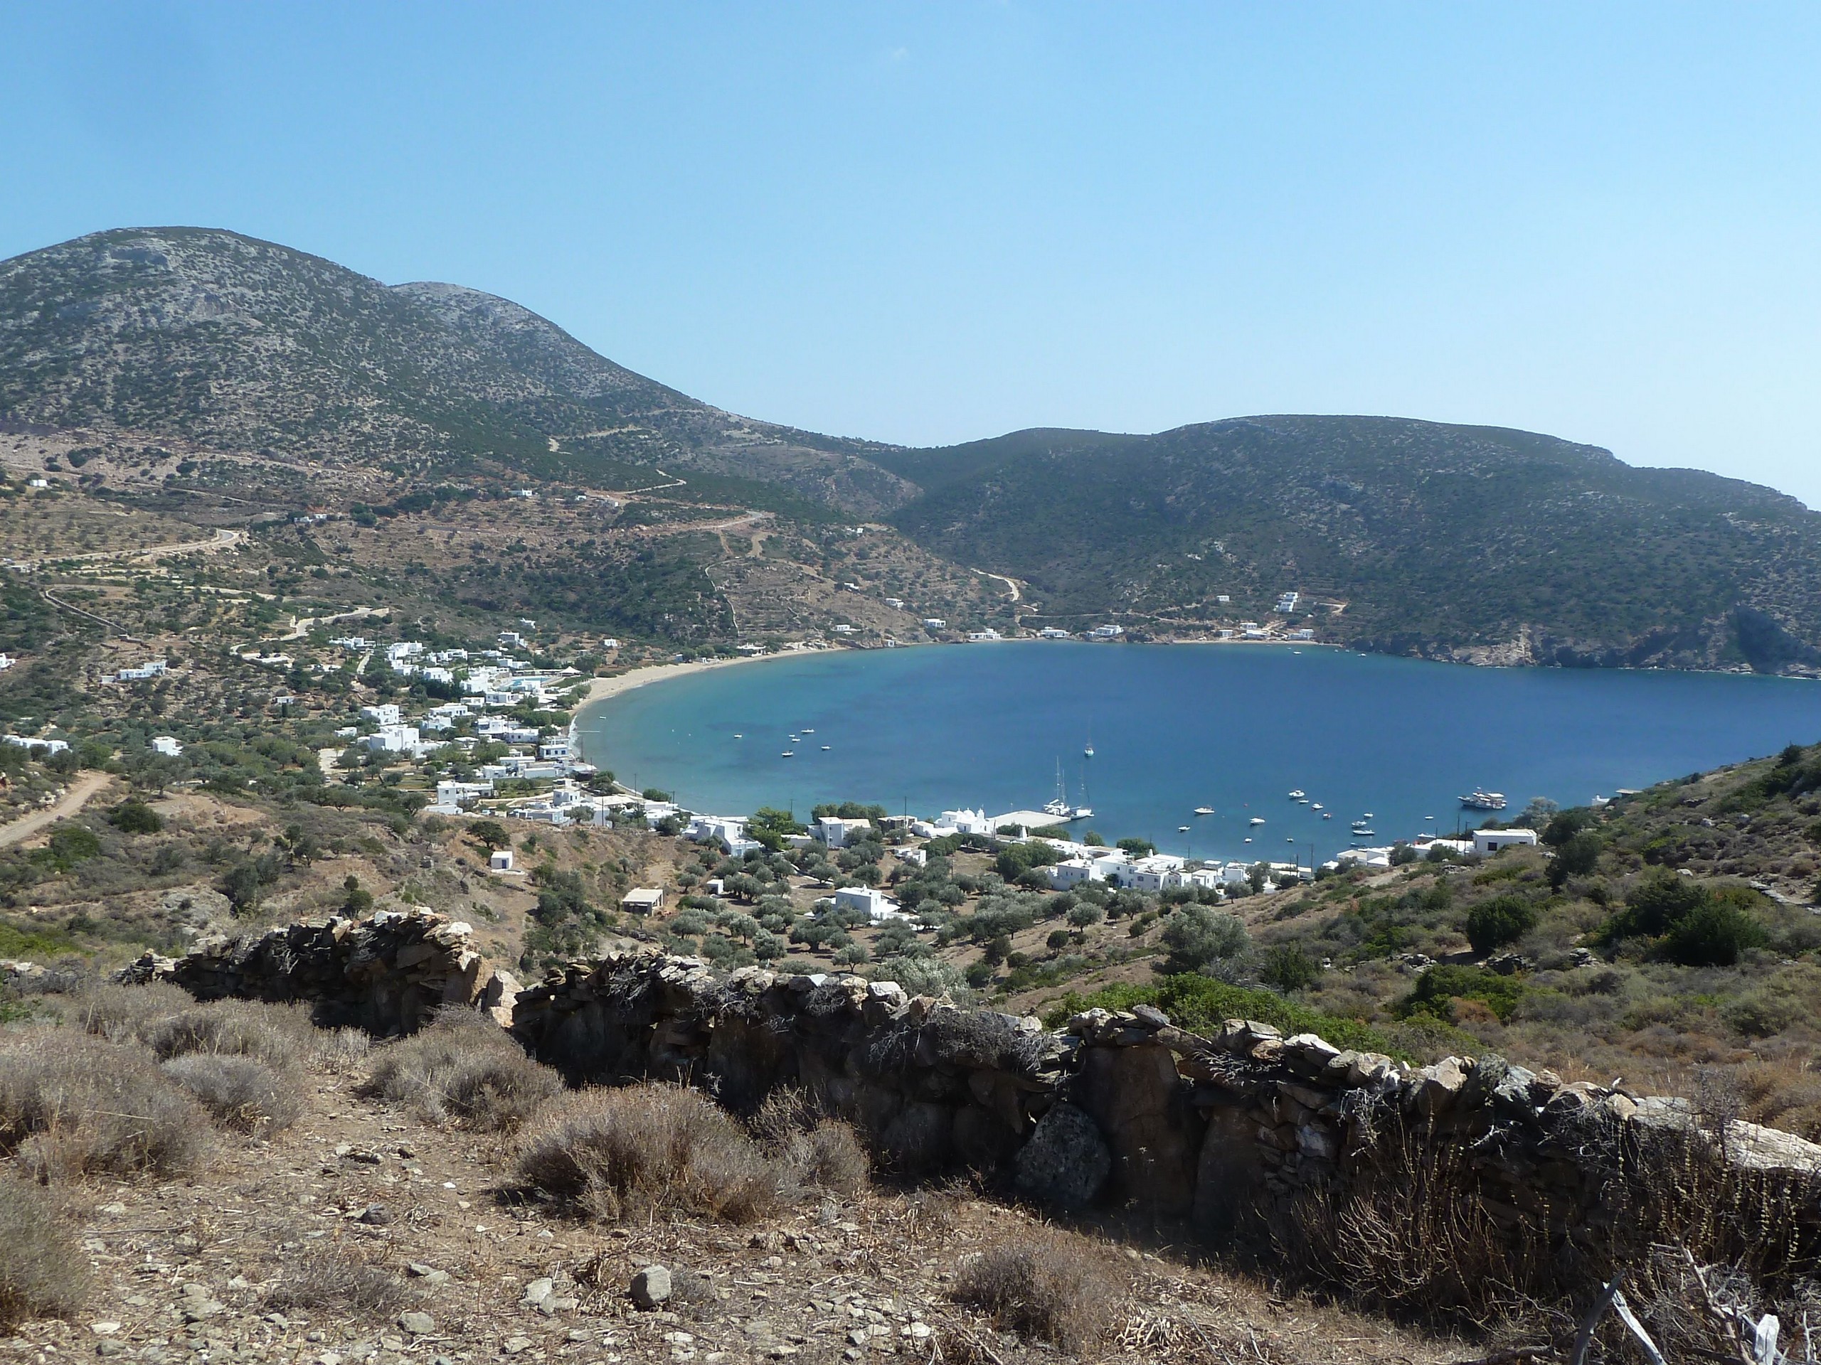
M 0 1361 L 1056 1360 L 951 1299 L 972 1252 L 1038 1219 L 969 1190 L 816 1199 L 759 1225 L 581 1223 L 508 1192 L 510 1139 L 426 1127 L 310 1076 L 271 1141 L 222 1134 L 204 1174 L 69 1190 L 95 1292 L 33 1321 Z M 1429 1361 L 1477 1354 L 1196 1267 L 1167 1245 L 1094 1238 L 1109 1334 L 1129 1361 Z M 672 1270 L 639 1310 L 628 1283 Z

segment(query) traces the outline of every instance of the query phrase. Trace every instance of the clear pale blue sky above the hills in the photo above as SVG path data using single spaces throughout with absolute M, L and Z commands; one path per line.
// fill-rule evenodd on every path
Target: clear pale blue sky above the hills
M 1814 4 L 0 9 L 0 257 L 208 224 L 916 444 L 1399 413 L 1821 506 Z

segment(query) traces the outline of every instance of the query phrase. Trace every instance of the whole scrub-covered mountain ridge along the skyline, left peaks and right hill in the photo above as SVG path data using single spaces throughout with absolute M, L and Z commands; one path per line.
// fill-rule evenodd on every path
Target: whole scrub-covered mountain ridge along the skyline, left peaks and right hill
M 166 468 L 184 464 L 233 497 L 266 479 L 280 511 L 417 515 L 410 495 L 450 482 L 548 480 L 799 524 L 890 517 L 956 573 L 1022 581 L 1002 626 L 1113 619 L 1180 639 L 1251 619 L 1470 662 L 1821 675 L 1821 513 L 1754 484 L 1382 417 L 943 450 L 821 437 L 665 388 L 504 298 L 384 286 L 217 229 L 95 233 L 0 262 L 0 428 L 22 424 L 100 440 L 82 450 L 106 446 L 113 495 L 113 470 L 138 464 L 191 497 Z M 1300 593 L 1293 612 L 1273 612 L 1282 592 Z

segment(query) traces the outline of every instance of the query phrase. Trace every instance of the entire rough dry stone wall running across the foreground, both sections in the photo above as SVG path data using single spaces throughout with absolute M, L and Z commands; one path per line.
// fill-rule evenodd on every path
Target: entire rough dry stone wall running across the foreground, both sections
M 1043 1203 L 1193 1219 L 1211 1239 L 1282 1241 L 1311 1210 L 1426 1183 L 1471 1201 L 1493 1236 L 1584 1267 L 1663 1230 L 1673 1168 L 1706 1172 L 1675 1198 L 1774 1203 L 1794 1219 L 1777 1236 L 1821 1249 L 1821 1147 L 1499 1057 L 1408 1067 L 1244 1019 L 1204 1037 L 1149 1006 L 1049 1032 L 890 981 L 723 976 L 656 954 L 517 988 L 468 939 L 426 912 L 304 921 L 127 976 L 202 999 L 308 999 L 322 1023 L 375 1034 L 444 1005 L 490 1008 L 574 1083 L 677 1081 L 736 1110 L 799 1087 L 905 1172 L 994 1172 Z

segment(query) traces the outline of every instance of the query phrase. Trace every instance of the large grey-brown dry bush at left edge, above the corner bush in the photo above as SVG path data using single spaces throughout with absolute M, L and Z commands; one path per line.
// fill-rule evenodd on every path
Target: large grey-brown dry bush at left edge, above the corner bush
M 0 1054 L 0 1154 L 38 1179 L 175 1176 L 208 1147 L 208 1114 L 137 1046 L 58 1032 Z

